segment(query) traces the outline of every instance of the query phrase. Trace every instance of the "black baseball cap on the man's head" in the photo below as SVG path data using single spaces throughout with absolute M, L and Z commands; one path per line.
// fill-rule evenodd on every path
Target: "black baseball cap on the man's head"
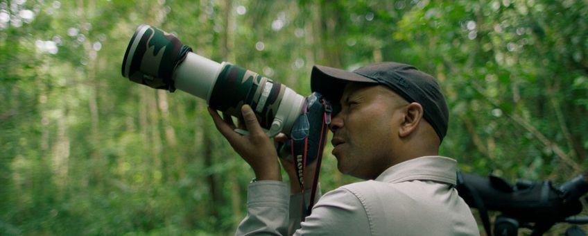
M 424 119 L 433 126 L 440 140 L 447 134 L 449 111 L 437 80 L 412 65 L 381 62 L 352 72 L 315 65 L 311 74 L 312 92 L 320 92 L 331 103 L 340 103 L 348 81 L 386 85 L 408 102 L 420 103 Z

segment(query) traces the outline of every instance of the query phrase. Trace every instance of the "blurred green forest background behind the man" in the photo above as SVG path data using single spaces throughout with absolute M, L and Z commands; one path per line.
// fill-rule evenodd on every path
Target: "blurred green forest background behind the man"
M 2 0 L 0 235 L 234 233 L 254 175 L 205 101 L 121 76 L 139 24 L 303 95 L 315 64 L 412 64 L 440 80 L 463 171 L 588 167 L 585 0 Z M 331 149 L 325 192 L 356 181 Z

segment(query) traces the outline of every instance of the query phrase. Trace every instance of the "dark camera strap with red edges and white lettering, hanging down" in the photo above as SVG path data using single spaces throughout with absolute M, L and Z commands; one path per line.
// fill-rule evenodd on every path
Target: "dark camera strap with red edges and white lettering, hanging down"
M 320 174 L 320 165 L 322 161 L 322 151 L 325 148 L 327 140 L 327 131 L 331 124 L 332 108 L 328 101 L 322 99 L 318 93 L 304 99 L 304 106 L 300 110 L 300 116 L 295 121 L 293 132 L 291 133 L 291 154 L 296 169 L 298 183 L 302 189 L 302 219 L 311 214 L 314 205 L 318 178 Z M 320 127 L 320 128 L 319 128 Z M 311 133 L 311 130 L 313 133 Z M 315 133 L 320 130 L 320 133 Z M 308 208 L 304 198 L 304 176 L 307 162 L 316 160 L 317 166 L 313 178 L 313 187 L 311 188 L 311 199 Z

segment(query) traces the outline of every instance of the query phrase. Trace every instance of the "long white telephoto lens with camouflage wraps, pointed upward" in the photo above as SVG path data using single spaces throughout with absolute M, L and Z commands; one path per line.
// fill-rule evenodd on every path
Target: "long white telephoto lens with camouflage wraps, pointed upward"
M 304 103 L 303 96 L 285 85 L 193 53 L 175 35 L 146 24 L 132 35 L 122 74 L 156 89 L 188 92 L 233 117 L 241 117 L 241 106 L 248 104 L 269 136 L 289 134 Z

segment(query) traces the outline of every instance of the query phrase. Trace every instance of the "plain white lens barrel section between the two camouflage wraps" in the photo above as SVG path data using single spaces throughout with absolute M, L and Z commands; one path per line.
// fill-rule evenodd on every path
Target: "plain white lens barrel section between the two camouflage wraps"
M 206 99 L 208 102 L 221 69 L 223 69 L 222 64 L 189 52 L 173 72 L 175 88 L 198 96 L 200 99 Z

